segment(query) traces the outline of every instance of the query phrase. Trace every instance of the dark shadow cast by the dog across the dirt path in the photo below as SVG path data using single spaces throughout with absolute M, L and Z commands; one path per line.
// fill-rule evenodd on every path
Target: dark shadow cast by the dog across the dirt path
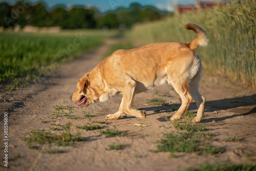
M 179 104 L 170 104 L 170 106 L 151 106 L 148 108 L 139 108 L 139 110 L 144 110 L 146 112 L 148 111 L 154 111 L 152 114 L 147 114 L 147 116 L 155 115 L 159 113 L 164 112 L 174 112 L 172 108 L 179 108 Z M 237 110 L 235 110 L 238 108 Z M 204 119 L 202 123 L 212 122 L 212 119 L 215 121 L 222 121 L 238 116 L 247 116 L 252 115 L 256 117 L 256 94 L 251 96 L 243 96 L 243 97 L 236 97 L 236 98 L 229 98 L 229 99 L 221 99 L 221 100 L 212 100 L 212 101 L 206 101 L 205 105 L 205 112 L 214 112 L 219 110 L 230 110 L 234 109 L 232 113 L 236 113 L 231 116 L 224 116 L 220 118 L 211 117 Z M 197 105 L 195 102 L 191 103 L 188 110 L 197 110 Z M 196 112 L 194 112 L 196 113 Z M 169 119 L 171 116 L 167 116 L 167 119 Z M 160 117 L 158 118 L 159 121 L 165 122 L 167 121 L 165 118 Z

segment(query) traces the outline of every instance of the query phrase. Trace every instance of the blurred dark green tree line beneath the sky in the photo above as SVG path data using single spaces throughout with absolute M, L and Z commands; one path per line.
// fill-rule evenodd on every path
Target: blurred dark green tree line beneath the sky
M 55 27 L 63 29 L 78 28 L 126 28 L 135 23 L 157 20 L 163 17 L 152 7 L 141 8 L 138 4 L 132 4 L 130 9 L 119 8 L 117 11 L 99 14 L 95 8 L 57 6 L 47 10 L 46 6 L 39 2 L 31 4 L 27 0 L 17 1 L 13 6 L 7 2 L 0 3 L 0 26 L 24 27 Z

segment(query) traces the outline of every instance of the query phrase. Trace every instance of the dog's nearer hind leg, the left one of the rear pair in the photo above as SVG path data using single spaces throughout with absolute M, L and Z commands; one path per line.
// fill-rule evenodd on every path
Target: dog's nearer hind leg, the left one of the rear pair
M 188 109 L 190 103 L 192 102 L 193 98 L 188 92 L 188 84 L 186 80 L 176 80 L 172 82 L 172 86 L 174 90 L 180 95 L 182 103 L 179 110 L 170 118 L 170 120 L 175 121 L 179 120 L 184 112 Z

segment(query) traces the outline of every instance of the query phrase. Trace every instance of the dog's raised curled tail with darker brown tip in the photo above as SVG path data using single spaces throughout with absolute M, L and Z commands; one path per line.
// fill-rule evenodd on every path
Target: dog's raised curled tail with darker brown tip
M 185 29 L 187 30 L 193 30 L 194 32 L 197 33 L 197 38 L 194 40 L 190 41 L 188 46 L 192 50 L 196 50 L 199 46 L 205 47 L 207 46 L 207 43 L 209 41 L 207 34 L 201 27 L 195 24 L 187 24 L 185 26 Z

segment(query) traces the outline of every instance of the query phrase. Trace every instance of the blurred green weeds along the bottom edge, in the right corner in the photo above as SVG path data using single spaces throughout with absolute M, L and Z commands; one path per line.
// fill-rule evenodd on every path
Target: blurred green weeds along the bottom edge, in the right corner
M 209 165 L 209 164 L 200 164 L 198 169 L 195 168 L 186 168 L 186 171 L 226 171 L 226 170 L 232 170 L 232 171 L 250 171 L 255 170 L 256 166 L 253 166 L 251 164 L 246 165 L 231 165 L 228 166 L 227 164 L 221 165 L 219 163 Z

